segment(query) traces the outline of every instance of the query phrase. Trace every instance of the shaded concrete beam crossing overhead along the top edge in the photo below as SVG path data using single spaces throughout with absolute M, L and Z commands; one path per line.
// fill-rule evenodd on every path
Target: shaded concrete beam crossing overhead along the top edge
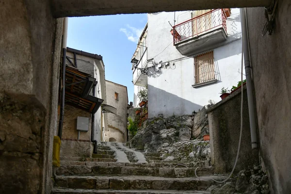
M 160 11 L 203 10 L 223 7 L 258 7 L 267 6 L 271 0 L 98 0 L 81 3 L 79 0 L 52 0 L 54 14 L 64 16 L 93 16 L 110 14 L 155 13 Z

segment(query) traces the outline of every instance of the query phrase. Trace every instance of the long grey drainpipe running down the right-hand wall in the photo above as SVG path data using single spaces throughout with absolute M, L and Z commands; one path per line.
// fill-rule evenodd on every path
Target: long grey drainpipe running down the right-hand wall
M 244 69 L 245 69 L 245 78 L 246 78 L 246 91 L 247 91 L 247 100 L 248 100 L 248 109 L 249 109 L 249 119 L 250 119 L 250 129 L 251 129 L 251 140 L 252 140 L 252 149 L 258 149 L 258 136 L 257 136 L 257 124 L 256 124 L 256 112 L 255 112 L 255 103 L 254 103 L 254 88 L 250 64 L 250 55 L 249 55 L 249 37 L 247 31 L 247 16 L 246 8 L 241 8 L 241 18 L 243 19 L 242 24 L 242 36 L 243 36 L 243 57 L 244 57 Z

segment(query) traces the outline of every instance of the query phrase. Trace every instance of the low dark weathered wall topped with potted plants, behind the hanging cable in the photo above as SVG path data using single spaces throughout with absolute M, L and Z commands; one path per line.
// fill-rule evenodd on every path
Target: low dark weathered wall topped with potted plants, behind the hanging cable
M 259 151 L 252 150 L 246 85 L 243 91 L 242 142 L 235 172 L 259 163 Z M 239 144 L 241 126 L 241 89 L 209 110 L 211 164 L 215 173 L 231 172 Z

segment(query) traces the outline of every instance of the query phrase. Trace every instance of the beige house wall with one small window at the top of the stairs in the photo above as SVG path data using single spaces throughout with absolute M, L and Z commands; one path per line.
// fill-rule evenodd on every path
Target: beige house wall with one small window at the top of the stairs
M 118 100 L 114 98 L 115 92 L 118 93 Z M 105 131 L 106 141 L 113 137 L 117 142 L 127 142 L 127 87 L 106 81 L 106 98 L 107 104 L 117 109 L 116 115 L 105 113 L 108 117 L 108 128 Z

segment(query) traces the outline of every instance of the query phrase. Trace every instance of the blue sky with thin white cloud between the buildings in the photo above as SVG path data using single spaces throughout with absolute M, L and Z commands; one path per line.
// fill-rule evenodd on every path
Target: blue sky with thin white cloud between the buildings
M 105 79 L 127 86 L 133 101 L 130 60 L 146 21 L 146 14 L 70 17 L 67 46 L 102 55 Z

